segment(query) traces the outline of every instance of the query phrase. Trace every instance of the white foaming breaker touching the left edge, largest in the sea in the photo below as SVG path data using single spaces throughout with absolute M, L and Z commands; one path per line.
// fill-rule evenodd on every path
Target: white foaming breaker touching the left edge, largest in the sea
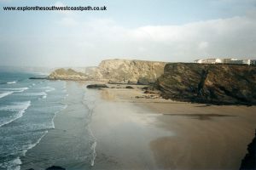
M 0 107 L 0 111 L 17 111 L 17 114 L 15 114 L 14 116 L 8 117 L 9 120 L 7 120 L 5 122 L 0 122 L 0 127 L 19 119 L 21 116 L 23 116 L 23 113 L 26 111 L 26 109 L 30 105 L 31 105 L 31 101 L 26 101 L 26 102 L 16 102 L 13 105 L 6 105 L 3 107 Z

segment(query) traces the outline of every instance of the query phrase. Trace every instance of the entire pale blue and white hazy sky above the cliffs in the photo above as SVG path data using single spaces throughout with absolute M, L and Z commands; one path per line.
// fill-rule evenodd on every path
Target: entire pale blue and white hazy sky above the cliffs
M 3 6 L 108 11 L 3 11 Z M 256 59 L 256 0 L 0 0 L 0 65 Z

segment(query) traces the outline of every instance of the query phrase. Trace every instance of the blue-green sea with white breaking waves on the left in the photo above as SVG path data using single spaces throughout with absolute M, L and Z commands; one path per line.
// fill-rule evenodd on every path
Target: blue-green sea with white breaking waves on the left
M 46 79 L 42 73 L 0 71 L 0 169 L 20 169 L 21 156 L 50 129 L 65 109 L 66 82 Z

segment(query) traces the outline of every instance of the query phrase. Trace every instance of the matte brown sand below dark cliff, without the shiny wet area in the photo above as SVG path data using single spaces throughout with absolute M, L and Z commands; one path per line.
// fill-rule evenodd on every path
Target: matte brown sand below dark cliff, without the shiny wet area
M 102 94 L 159 115 L 154 126 L 173 134 L 150 141 L 160 169 L 238 169 L 256 128 L 255 106 L 135 99 L 143 92 L 130 89 L 105 89 Z

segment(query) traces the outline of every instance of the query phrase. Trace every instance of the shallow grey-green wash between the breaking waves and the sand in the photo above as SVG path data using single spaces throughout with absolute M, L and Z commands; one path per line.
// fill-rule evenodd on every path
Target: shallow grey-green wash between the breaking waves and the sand
M 84 85 L 79 82 L 67 82 L 67 107 L 56 113 L 54 129 L 50 129 L 44 138 L 21 157 L 21 169 L 45 169 L 51 166 L 73 167 L 75 163 L 90 161 L 90 114 L 82 103 Z

